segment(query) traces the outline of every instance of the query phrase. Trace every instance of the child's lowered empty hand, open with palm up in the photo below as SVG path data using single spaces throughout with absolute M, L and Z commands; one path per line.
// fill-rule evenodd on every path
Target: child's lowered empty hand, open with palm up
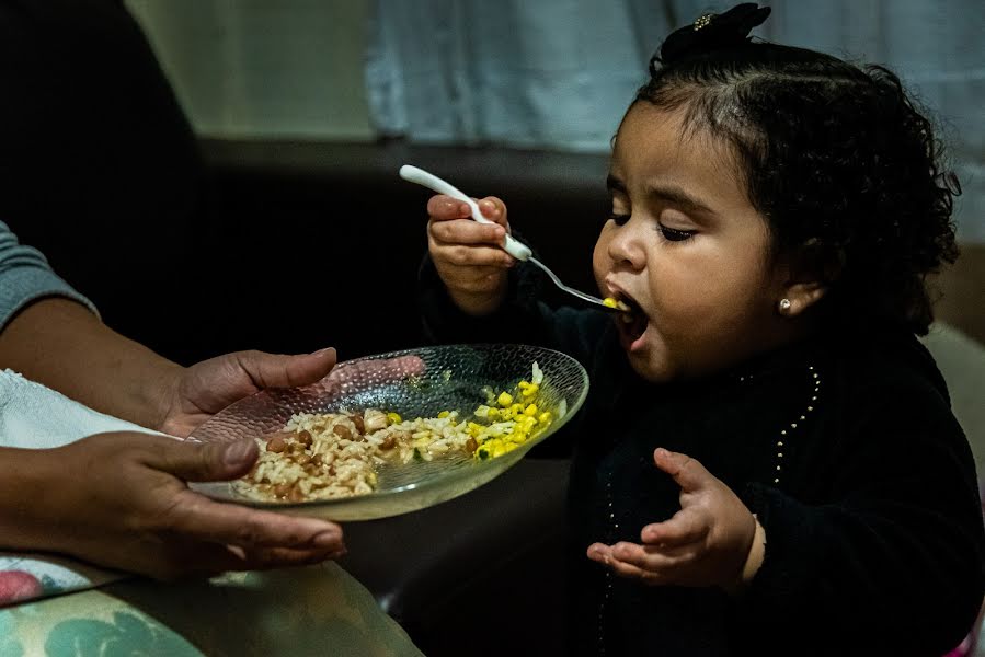
M 756 519 L 741 499 L 701 463 L 663 448 L 656 466 L 680 486 L 680 510 L 640 532 L 642 544 L 594 543 L 588 558 L 648 585 L 720 586 L 733 590 L 756 532 Z

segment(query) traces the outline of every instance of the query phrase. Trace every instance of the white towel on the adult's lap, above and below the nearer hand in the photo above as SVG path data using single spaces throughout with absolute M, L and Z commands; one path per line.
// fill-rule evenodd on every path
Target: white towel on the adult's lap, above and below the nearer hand
M 60 447 L 104 431 L 163 435 L 93 411 L 14 371 L 0 372 L 0 447 Z M 126 577 L 67 557 L 0 552 L 0 585 L 3 574 L 12 572 L 30 575 L 35 583 L 22 589 L 18 601 L 92 588 Z M 0 586 L 0 593 L 2 590 Z

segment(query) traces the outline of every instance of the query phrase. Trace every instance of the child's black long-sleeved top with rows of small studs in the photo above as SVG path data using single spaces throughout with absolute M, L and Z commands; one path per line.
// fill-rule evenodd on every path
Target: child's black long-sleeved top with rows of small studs
M 588 370 L 585 405 L 545 443 L 573 445 L 572 653 L 932 656 L 970 630 L 985 590 L 974 461 L 912 334 L 814 338 L 655 385 L 630 369 L 605 313 L 552 311 L 515 280 L 503 309 L 477 321 L 429 263 L 421 281 L 436 342 L 538 344 Z M 596 541 L 639 542 L 680 508 L 656 447 L 701 461 L 766 529 L 763 567 L 740 597 L 648 587 L 585 556 Z

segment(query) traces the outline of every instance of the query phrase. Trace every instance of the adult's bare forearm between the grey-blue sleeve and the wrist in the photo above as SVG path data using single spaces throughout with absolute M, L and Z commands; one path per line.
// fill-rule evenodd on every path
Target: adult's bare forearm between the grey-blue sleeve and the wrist
M 7 325 L 0 333 L 0 367 L 152 428 L 160 426 L 182 370 L 61 298 L 42 299 Z

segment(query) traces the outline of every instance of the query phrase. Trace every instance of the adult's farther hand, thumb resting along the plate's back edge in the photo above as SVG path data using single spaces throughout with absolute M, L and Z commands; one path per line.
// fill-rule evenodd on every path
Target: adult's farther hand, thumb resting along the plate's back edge
M 165 384 L 160 430 L 187 437 L 203 422 L 264 388 L 314 383 L 335 365 L 335 349 L 283 356 L 237 351 L 177 370 Z

